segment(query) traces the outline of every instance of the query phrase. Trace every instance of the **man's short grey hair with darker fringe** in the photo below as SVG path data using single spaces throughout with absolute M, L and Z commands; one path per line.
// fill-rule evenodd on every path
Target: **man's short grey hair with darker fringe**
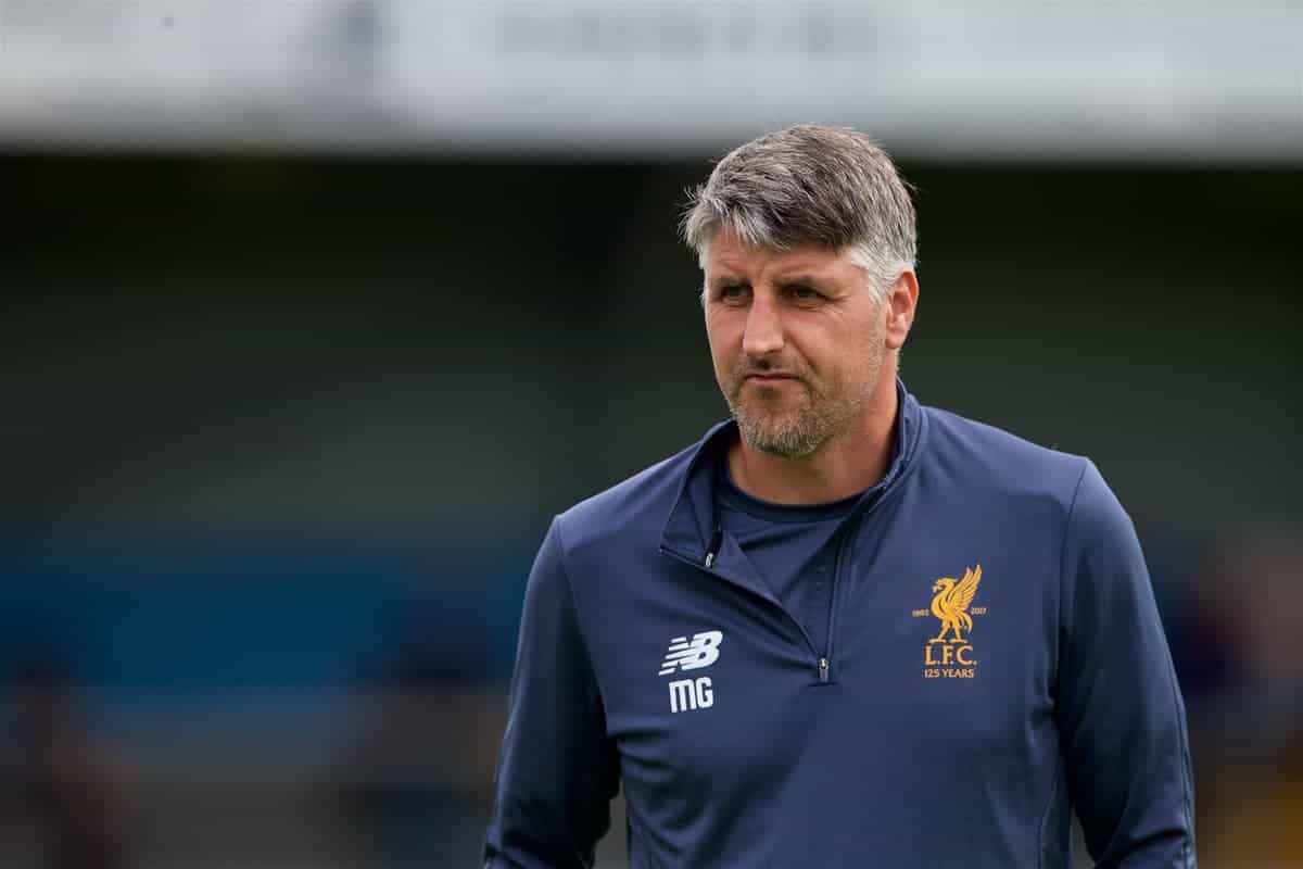
M 728 152 L 691 192 L 680 227 L 702 267 L 724 227 L 751 248 L 850 249 L 882 297 L 915 266 L 909 190 L 887 152 L 850 129 L 801 124 Z

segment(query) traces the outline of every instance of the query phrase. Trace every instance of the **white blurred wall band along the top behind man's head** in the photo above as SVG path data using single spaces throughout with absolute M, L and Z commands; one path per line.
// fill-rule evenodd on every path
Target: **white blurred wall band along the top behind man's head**
M 1303 160 L 1291 0 L 0 0 L 0 147 Z

